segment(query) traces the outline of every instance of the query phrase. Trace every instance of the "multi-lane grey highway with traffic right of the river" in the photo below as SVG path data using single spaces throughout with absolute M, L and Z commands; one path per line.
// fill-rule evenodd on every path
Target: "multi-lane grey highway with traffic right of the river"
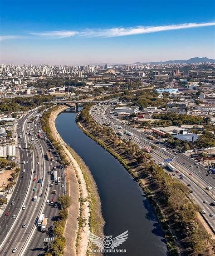
M 128 140 L 130 138 L 133 143 L 141 148 L 147 146 L 151 149 L 151 145 L 156 145 L 156 151 L 151 151 L 149 153 L 156 164 L 160 165 L 164 159 L 171 158 L 173 160 L 171 164 L 175 166 L 178 171 L 174 172 L 174 177 L 186 185 L 189 184 L 189 188 L 193 191 L 193 193 L 190 194 L 190 197 L 194 198 L 196 203 L 206 211 L 205 214 L 202 213 L 202 216 L 206 220 L 206 223 L 209 223 L 212 231 L 215 232 L 215 217 L 209 216 L 211 213 L 215 214 L 214 196 L 211 191 L 205 190 L 206 186 L 214 187 L 214 175 L 206 176 L 206 169 L 199 163 L 197 164 L 197 162 L 182 153 L 173 154 L 172 149 L 169 148 L 168 145 L 165 145 L 158 140 L 151 141 L 147 138 L 148 135 L 146 133 L 123 124 L 120 120 L 117 120 L 114 115 L 110 114 L 112 107 L 113 105 L 94 105 L 90 110 L 90 114 L 99 125 L 109 126 L 115 133 L 122 131 L 123 135 L 120 136 L 122 139 Z M 122 126 L 122 129 L 118 129 L 118 126 Z M 125 131 L 130 131 L 133 135 L 127 136 L 124 134 Z M 165 147 L 166 151 L 161 151 L 161 149 Z M 196 166 L 200 167 L 196 168 Z M 166 167 L 164 168 L 164 171 L 168 172 L 168 174 L 172 174 Z M 190 175 L 190 173 L 192 175 Z M 183 175 L 183 180 L 180 179 L 180 175 Z M 207 201 L 207 203 L 204 203 L 203 201 Z

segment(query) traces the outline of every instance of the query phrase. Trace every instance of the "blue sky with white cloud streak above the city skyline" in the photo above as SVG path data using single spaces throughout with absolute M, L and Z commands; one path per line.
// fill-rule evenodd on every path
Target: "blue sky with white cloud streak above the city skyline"
M 0 0 L 0 63 L 215 59 L 215 0 Z

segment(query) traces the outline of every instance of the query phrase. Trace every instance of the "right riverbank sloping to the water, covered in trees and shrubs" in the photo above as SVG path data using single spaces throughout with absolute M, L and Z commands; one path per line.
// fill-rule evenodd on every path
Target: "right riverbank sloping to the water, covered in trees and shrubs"
M 207 242 L 211 242 L 211 238 L 196 220 L 195 204 L 187 200 L 186 192 L 184 192 L 187 189 L 186 186 L 183 186 L 179 181 L 173 180 L 161 168 L 156 167 L 153 160 L 150 159 L 151 157 L 140 151 L 136 145 L 129 141 L 127 143 L 121 141 L 118 136 L 111 132 L 111 129 L 97 125 L 90 117 L 88 110 L 89 106 L 78 115 L 76 121 L 79 128 L 111 153 L 145 192 L 160 221 L 171 254 L 177 254 L 174 246 L 175 242 L 181 255 L 193 254 L 192 249 L 197 253 L 204 251 L 204 253 L 207 252 L 207 255 L 212 255 L 212 248 Z M 171 204 L 171 207 L 169 204 Z M 182 208 L 180 209 L 182 206 L 189 207 L 190 210 L 186 213 Z M 186 224 L 191 226 L 186 226 L 182 220 L 185 222 L 187 218 L 183 219 L 185 218 L 183 215 L 189 214 L 189 212 L 193 217 Z M 182 220 L 176 221 L 176 216 L 181 216 L 180 219 Z M 196 233 L 193 230 L 192 232 L 195 236 L 187 236 L 185 231 L 192 230 L 192 225 L 194 224 L 197 225 L 195 230 L 199 232 Z M 204 244 L 207 244 L 206 248 Z

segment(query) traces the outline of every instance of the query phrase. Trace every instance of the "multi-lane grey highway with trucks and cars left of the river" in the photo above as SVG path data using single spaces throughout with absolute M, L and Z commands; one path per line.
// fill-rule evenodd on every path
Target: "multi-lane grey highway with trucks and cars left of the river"
M 60 168 L 59 156 L 49 140 L 45 139 L 42 131 L 43 138 L 38 137 L 38 132 L 41 130 L 39 117 L 37 110 L 34 110 L 17 123 L 18 144 L 21 146 L 17 150 L 20 153 L 22 171 L 4 214 L 0 217 L 0 255 L 44 255 L 48 247 L 44 245 L 42 238 L 54 235 L 49 227 L 58 220 L 60 206 L 54 208 L 46 204 L 46 201 L 56 202 L 58 196 L 64 195 L 64 169 Z M 29 133 L 32 135 L 30 136 Z M 30 150 L 32 137 L 34 141 Z M 48 150 L 52 151 L 49 154 L 54 161 L 48 161 L 46 156 Z M 61 177 L 61 184 L 64 184 L 64 187 L 54 184 L 54 176 L 50 175 L 50 170 L 54 166 L 57 167 L 58 176 Z M 41 183 L 38 182 L 39 179 L 42 180 Z M 53 187 L 50 187 L 51 182 Z M 34 188 L 36 191 L 33 191 Z M 56 190 L 56 194 L 52 194 L 53 190 Z M 34 196 L 37 196 L 36 201 L 32 200 Z M 23 205 L 25 209 L 22 209 Z M 5 215 L 7 212 L 9 212 L 8 216 Z M 48 218 L 45 232 L 37 228 L 38 216 L 41 213 Z M 25 228 L 22 227 L 23 224 L 26 224 Z M 17 251 L 12 253 L 15 247 Z

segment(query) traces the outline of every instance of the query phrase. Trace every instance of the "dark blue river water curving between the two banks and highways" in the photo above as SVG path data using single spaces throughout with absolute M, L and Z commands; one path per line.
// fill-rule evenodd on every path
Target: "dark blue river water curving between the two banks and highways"
M 104 235 L 114 238 L 125 231 L 129 233 L 127 240 L 116 248 L 126 249 L 126 253 L 114 255 L 168 255 L 160 225 L 142 190 L 114 157 L 78 128 L 75 116 L 72 112 L 61 113 L 56 128 L 93 175 L 102 202 Z

